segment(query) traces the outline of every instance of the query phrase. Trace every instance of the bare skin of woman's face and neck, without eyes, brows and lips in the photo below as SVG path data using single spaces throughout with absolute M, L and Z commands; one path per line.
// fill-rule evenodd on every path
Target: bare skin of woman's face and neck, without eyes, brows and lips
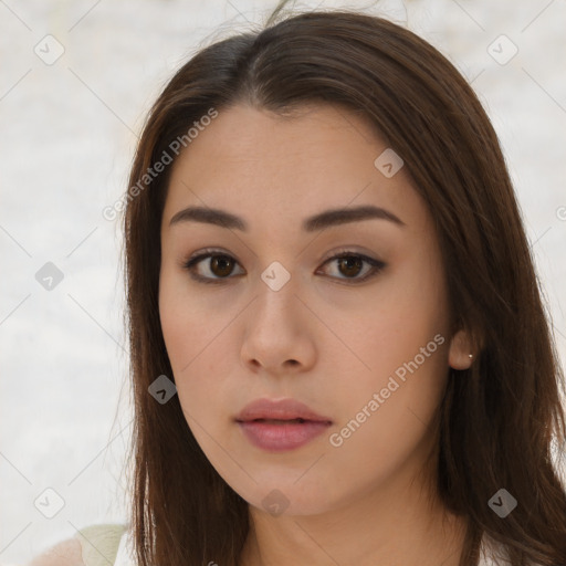
M 438 502 L 427 457 L 437 449 L 431 421 L 449 366 L 469 367 L 471 343 L 463 331 L 449 333 L 436 232 L 406 168 L 387 178 L 374 166 L 386 148 L 344 108 L 305 106 L 290 119 L 237 105 L 174 164 L 161 223 L 164 338 L 191 431 L 250 503 L 247 566 L 458 565 L 464 524 Z M 360 205 L 386 208 L 405 226 L 369 219 L 301 229 L 306 217 Z M 169 226 L 188 206 L 229 211 L 249 231 Z M 182 266 L 206 248 L 234 259 L 231 273 L 210 259 L 195 268 L 219 284 L 195 281 Z M 356 273 L 326 262 L 344 248 L 386 266 L 356 282 L 369 264 Z M 261 279 L 274 261 L 291 274 L 279 291 Z M 443 344 L 332 446 L 329 434 L 438 334 Z M 295 398 L 333 426 L 298 449 L 263 451 L 233 420 L 263 397 Z M 280 515 L 262 503 L 274 489 L 289 505 Z

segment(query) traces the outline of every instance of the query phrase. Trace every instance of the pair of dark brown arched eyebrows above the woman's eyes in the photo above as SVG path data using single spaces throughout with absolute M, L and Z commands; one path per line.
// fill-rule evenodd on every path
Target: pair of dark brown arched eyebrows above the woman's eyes
M 401 219 L 389 210 L 375 207 L 373 205 L 366 205 L 357 208 L 325 210 L 324 212 L 306 218 L 303 221 L 302 228 L 305 232 L 314 232 L 333 226 L 370 219 L 388 220 L 399 227 L 406 226 Z M 206 207 L 188 207 L 179 210 L 179 212 L 177 212 L 169 221 L 169 226 L 190 221 L 220 226 L 231 230 L 241 230 L 243 232 L 248 231 L 248 223 L 242 218 L 230 212 L 226 212 L 224 210 Z

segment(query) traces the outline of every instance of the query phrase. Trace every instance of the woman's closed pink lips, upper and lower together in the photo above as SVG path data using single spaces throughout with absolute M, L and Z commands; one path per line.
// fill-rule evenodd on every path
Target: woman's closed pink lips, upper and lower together
M 283 452 L 300 448 L 322 434 L 332 419 L 295 399 L 259 399 L 235 418 L 245 438 L 256 448 Z

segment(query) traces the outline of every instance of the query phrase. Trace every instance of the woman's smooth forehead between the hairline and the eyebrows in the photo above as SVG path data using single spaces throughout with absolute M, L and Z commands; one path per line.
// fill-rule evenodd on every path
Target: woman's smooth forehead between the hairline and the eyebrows
M 403 167 L 389 177 L 376 167 L 387 151 L 375 128 L 343 107 L 310 105 L 292 116 L 221 109 L 174 164 L 164 226 L 189 205 L 298 226 L 322 208 L 373 203 L 422 228 L 427 211 Z

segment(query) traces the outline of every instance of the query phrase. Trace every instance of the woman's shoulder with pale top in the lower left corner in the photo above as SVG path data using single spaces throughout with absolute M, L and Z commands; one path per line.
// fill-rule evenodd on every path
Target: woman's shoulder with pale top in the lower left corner
M 113 565 L 126 530 L 127 525 L 123 524 L 88 525 L 35 557 L 28 566 Z

